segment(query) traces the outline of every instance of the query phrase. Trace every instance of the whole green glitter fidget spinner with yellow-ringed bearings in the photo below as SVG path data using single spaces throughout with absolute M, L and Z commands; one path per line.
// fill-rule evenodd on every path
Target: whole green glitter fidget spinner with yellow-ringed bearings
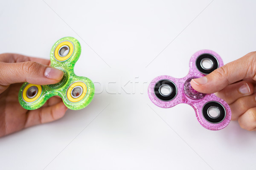
M 87 77 L 74 73 L 74 66 L 81 54 L 81 45 L 73 37 L 58 40 L 50 53 L 51 66 L 62 70 L 64 76 L 53 85 L 33 85 L 25 82 L 19 91 L 20 105 L 27 110 L 40 108 L 52 96 L 60 96 L 72 110 L 86 107 L 93 99 L 94 85 Z

